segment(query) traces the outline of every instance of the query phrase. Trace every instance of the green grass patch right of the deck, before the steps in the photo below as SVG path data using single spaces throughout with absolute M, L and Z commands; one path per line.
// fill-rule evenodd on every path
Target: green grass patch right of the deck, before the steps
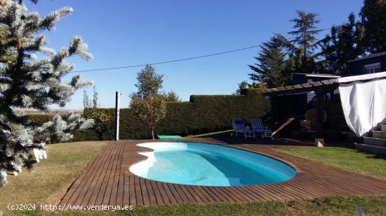
M 375 154 L 345 147 L 281 147 L 275 150 L 346 171 L 386 179 L 386 157 Z

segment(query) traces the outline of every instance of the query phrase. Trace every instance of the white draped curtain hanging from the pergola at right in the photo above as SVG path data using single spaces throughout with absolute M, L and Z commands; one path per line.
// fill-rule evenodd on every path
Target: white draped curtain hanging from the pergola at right
M 386 79 L 340 84 L 339 92 L 347 125 L 357 136 L 385 124 Z

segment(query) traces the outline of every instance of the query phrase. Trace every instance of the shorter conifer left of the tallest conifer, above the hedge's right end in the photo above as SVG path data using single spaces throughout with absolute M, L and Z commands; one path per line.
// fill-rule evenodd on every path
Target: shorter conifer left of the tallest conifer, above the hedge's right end
M 249 73 L 251 80 L 263 82 L 267 87 L 281 87 L 291 81 L 291 71 L 287 70 L 286 52 L 282 41 L 273 36 L 269 41 L 260 45 L 257 64 L 249 65 L 253 73 Z

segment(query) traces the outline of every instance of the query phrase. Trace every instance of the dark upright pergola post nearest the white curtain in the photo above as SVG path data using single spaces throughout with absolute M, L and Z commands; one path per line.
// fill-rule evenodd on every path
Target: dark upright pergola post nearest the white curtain
M 315 145 L 317 147 L 324 147 L 323 122 L 325 93 L 322 91 L 317 91 L 315 94 L 317 94 L 317 134 L 315 136 Z

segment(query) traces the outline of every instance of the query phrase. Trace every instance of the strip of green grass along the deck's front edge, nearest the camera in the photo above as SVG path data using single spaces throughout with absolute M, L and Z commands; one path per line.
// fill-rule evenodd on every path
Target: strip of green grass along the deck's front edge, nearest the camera
M 59 215 L 357 215 L 355 205 L 366 215 L 385 215 L 386 197 L 337 196 L 312 201 L 278 201 L 241 204 L 195 204 L 149 206 L 131 211 L 116 212 L 60 212 Z M 58 215 L 58 213 L 35 212 L 36 215 Z

